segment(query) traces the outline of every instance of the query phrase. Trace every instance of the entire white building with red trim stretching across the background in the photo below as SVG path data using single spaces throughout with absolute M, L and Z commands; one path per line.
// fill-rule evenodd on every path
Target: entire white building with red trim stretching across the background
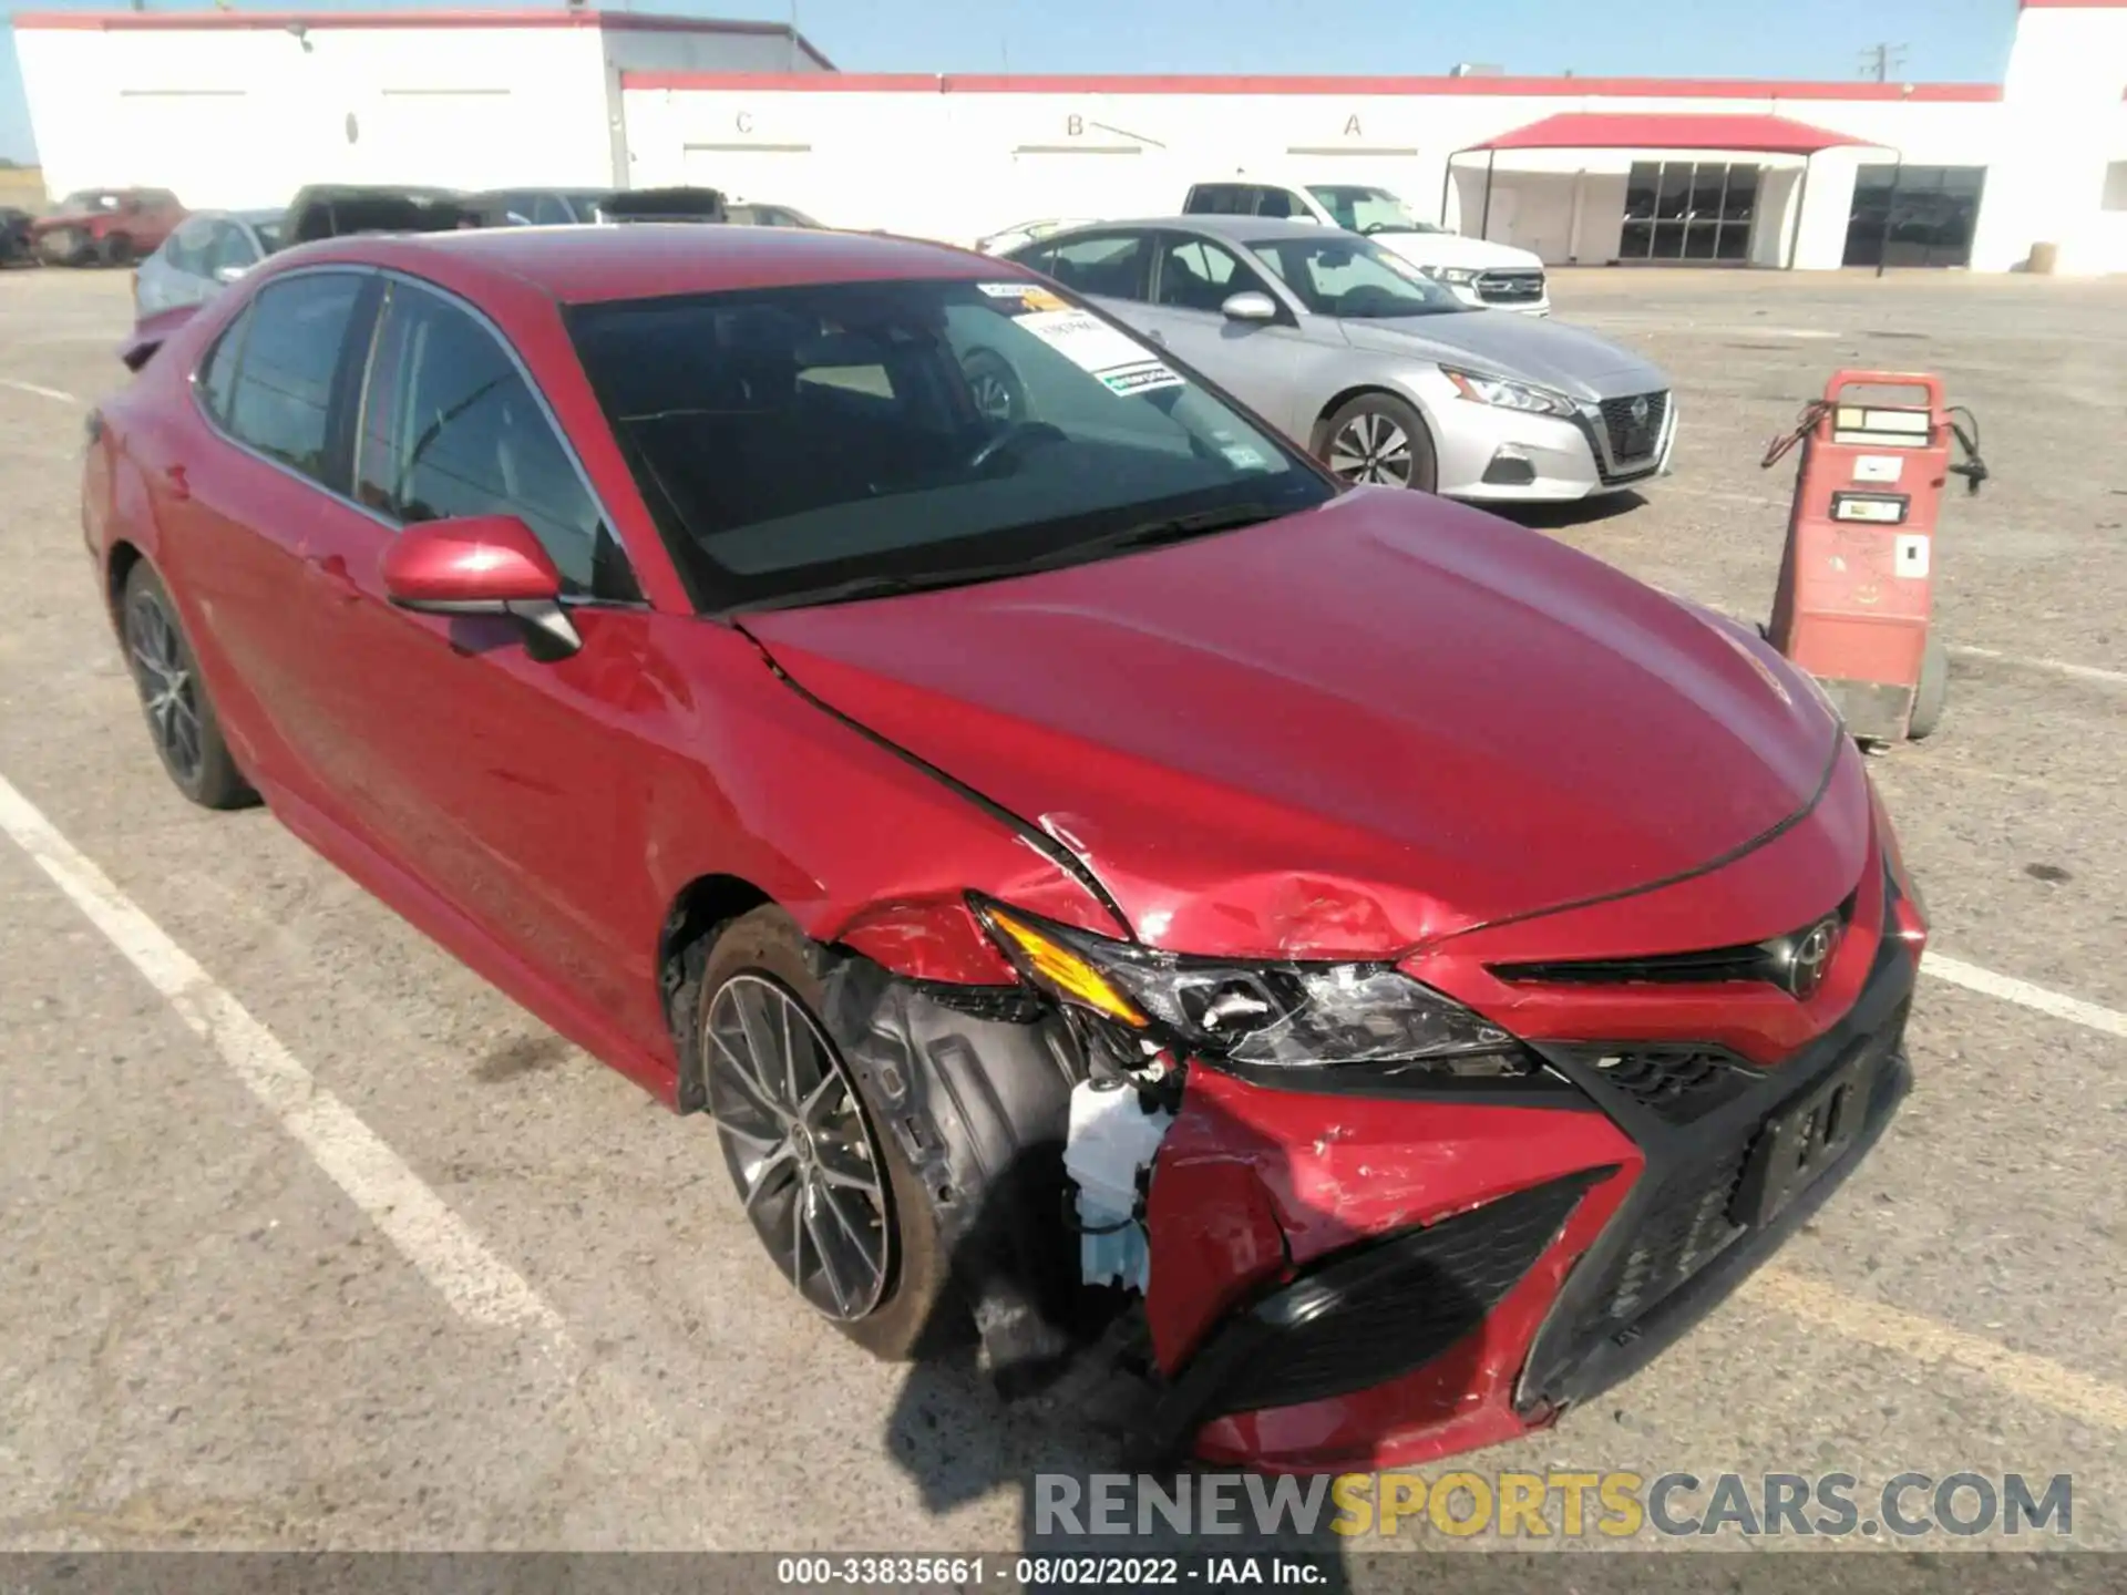
M 972 238 L 1236 170 L 1374 183 L 1548 262 L 2127 270 L 2127 0 L 2023 0 L 2002 85 L 836 72 L 640 13 L 15 19 L 55 189 L 704 183 Z

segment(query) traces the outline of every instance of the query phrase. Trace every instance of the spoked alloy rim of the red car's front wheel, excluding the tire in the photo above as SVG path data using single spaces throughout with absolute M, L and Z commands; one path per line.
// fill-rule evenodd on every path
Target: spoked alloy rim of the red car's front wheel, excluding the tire
M 866 1316 L 887 1293 L 893 1229 L 842 1059 L 804 1004 L 759 974 L 717 989 L 706 1046 L 708 1110 L 753 1231 L 821 1314 Z

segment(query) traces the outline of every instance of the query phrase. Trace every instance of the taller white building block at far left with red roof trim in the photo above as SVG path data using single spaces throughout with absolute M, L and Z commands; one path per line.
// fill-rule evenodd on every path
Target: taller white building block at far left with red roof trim
M 640 187 L 621 77 L 832 62 L 778 23 L 627 11 L 17 13 L 45 187 L 191 208 L 304 183 Z

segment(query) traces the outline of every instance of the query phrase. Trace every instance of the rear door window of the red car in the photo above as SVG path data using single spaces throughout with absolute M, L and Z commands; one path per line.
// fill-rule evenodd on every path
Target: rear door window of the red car
M 242 357 L 223 413 L 238 442 L 334 491 L 332 385 L 364 281 L 355 272 L 304 272 L 268 285 L 238 323 Z M 223 345 L 236 336 L 232 328 Z

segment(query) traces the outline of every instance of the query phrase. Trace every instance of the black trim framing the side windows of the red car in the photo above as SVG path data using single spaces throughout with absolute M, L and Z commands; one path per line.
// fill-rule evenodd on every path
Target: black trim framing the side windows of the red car
M 374 279 L 374 291 L 368 291 L 368 293 L 359 296 L 355 300 L 355 310 L 349 317 L 349 323 L 347 323 L 347 334 L 349 336 L 342 338 L 342 342 L 340 342 L 340 355 L 338 355 L 338 362 L 334 364 L 334 370 L 332 370 L 332 389 L 330 389 L 332 398 L 328 400 L 330 402 L 330 410 L 328 410 L 328 417 L 325 417 L 325 453 L 328 453 L 328 459 L 332 459 L 332 464 L 334 464 L 336 470 L 345 468 L 345 478 L 347 478 L 349 491 L 340 491 L 332 483 L 321 483 L 317 476 L 311 476 L 306 472 L 296 470 L 285 459 L 274 459 L 264 449 L 253 449 L 249 442 L 245 442 L 234 432 L 230 432 L 228 423 L 223 423 L 221 417 L 217 417 L 213 413 L 213 408 L 206 404 L 204 396 L 200 393 L 200 374 L 213 364 L 215 353 L 221 349 L 223 340 L 230 338 L 230 336 L 234 336 L 234 334 L 238 334 L 238 332 L 242 332 L 245 336 L 249 336 L 249 332 L 251 332 L 249 321 L 251 321 L 251 315 L 257 308 L 257 302 L 277 283 L 287 283 L 287 281 L 294 281 L 298 276 L 325 276 L 325 274 Z M 345 504 L 347 508 L 357 510 L 359 515 L 366 515 L 368 519 L 376 521 L 376 525 L 381 525 L 387 532 L 391 532 L 391 536 L 398 536 L 400 532 L 404 532 L 406 530 L 406 521 L 400 521 L 400 519 L 396 519 L 391 515 L 385 515 L 383 510 L 379 510 L 379 508 L 374 508 L 370 504 L 364 504 L 353 493 L 353 487 L 357 485 L 355 483 L 355 472 L 359 470 L 359 461 L 355 459 L 353 449 L 355 449 L 355 442 L 362 438 L 362 421 L 368 415 L 370 370 L 372 370 L 372 366 L 376 362 L 376 340 L 379 340 L 379 336 L 383 332 L 383 321 L 385 321 L 385 317 L 383 317 L 385 289 L 393 281 L 402 281 L 408 287 L 421 289 L 425 293 L 434 293 L 436 298 L 445 300 L 447 304 L 466 310 L 487 332 L 487 336 L 493 338 L 502 347 L 502 353 L 508 357 L 510 366 L 515 366 L 517 374 L 523 376 L 523 383 L 530 389 L 532 402 L 538 406 L 538 413 L 545 417 L 547 425 L 553 430 L 555 440 L 562 444 L 562 453 L 568 459 L 570 470 L 574 470 L 576 472 L 576 481 L 583 483 L 583 491 L 589 496 L 591 508 L 598 510 L 600 523 L 606 527 L 606 534 L 613 538 L 613 544 L 619 549 L 619 555 L 621 555 L 623 564 L 627 566 L 627 578 L 636 585 L 636 591 L 642 591 L 642 576 L 636 570 L 636 559 L 630 553 L 627 542 L 621 538 L 619 521 L 613 519 L 613 510 L 606 506 L 604 496 L 598 491 L 598 485 L 591 481 L 591 474 L 583 468 L 583 459 L 576 455 L 576 444 L 570 440 L 568 427 L 564 427 L 562 419 L 553 413 L 553 404 L 547 400 L 545 389 L 538 385 L 538 379 L 525 366 L 525 362 L 517 353 L 515 345 L 510 345 L 510 340 L 502 334 L 502 328 L 498 328 L 496 321 L 493 321 L 493 317 L 487 315 L 481 306 L 472 304 L 462 293 L 453 293 L 451 289 L 442 287 L 440 283 L 432 283 L 425 276 L 417 276 L 415 272 L 406 272 L 406 270 L 400 270 L 396 266 L 370 266 L 368 262 L 321 262 L 317 266 L 296 266 L 296 268 L 285 270 L 285 272 L 274 272 L 266 283 L 259 285 L 257 293 L 253 293 L 245 302 L 245 306 L 236 313 L 236 317 L 230 321 L 230 325 L 225 325 L 221 332 L 215 334 L 215 338 L 206 345 L 206 351 L 200 355 L 200 359 L 194 364 L 191 372 L 185 376 L 185 389 L 191 393 L 191 404 L 200 413 L 200 419 L 204 419 L 206 425 L 213 430 L 213 434 L 217 438 L 221 438 L 223 442 L 228 442 L 232 449 L 238 449 L 238 451 L 251 455 L 253 459 L 257 459 L 257 461 L 262 461 L 266 466 L 272 466 L 283 476 L 289 476 L 289 478 L 302 483 L 304 487 L 311 487 L 311 489 L 315 489 L 319 493 L 325 493 L 328 498 Z M 353 336 L 357 332 L 357 328 L 359 328 L 359 338 Z M 359 349 L 359 357 L 353 357 L 355 349 Z M 238 376 L 242 376 L 242 349 L 238 349 L 236 355 L 238 355 L 236 372 L 238 372 Z M 347 391 L 349 387 L 353 389 L 353 393 Z M 627 608 L 627 610 L 649 610 L 649 608 L 655 608 L 655 604 L 651 604 L 647 595 L 644 598 L 596 598 L 591 593 L 568 593 L 568 595 L 562 598 L 562 604 L 566 608 Z

